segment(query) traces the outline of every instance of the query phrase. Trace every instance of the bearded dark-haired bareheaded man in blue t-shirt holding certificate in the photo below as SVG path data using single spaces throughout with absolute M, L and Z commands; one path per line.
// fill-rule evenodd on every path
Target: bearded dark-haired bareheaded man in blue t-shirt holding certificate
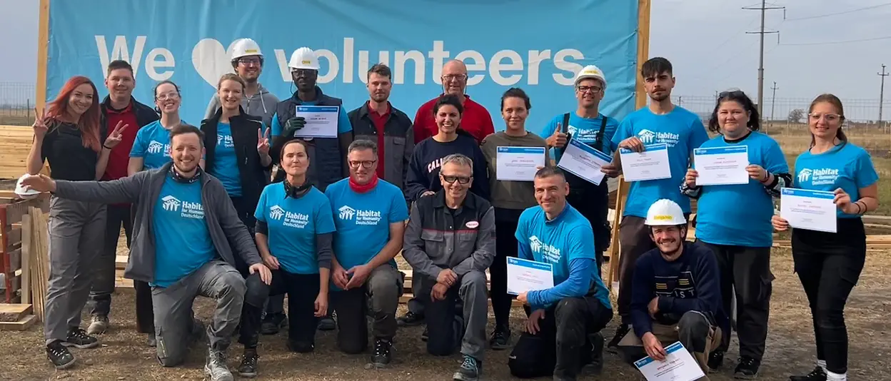
M 622 323 L 616 328 L 616 335 L 607 347 L 615 352 L 618 341 L 628 333 L 634 279 L 634 262 L 643 253 L 654 248 L 650 231 L 643 223 L 647 208 L 658 199 L 670 199 L 681 206 L 685 215 L 690 214 L 690 198 L 681 193 L 681 186 L 687 168 L 690 167 L 693 150 L 708 140 L 706 127 L 695 113 L 676 106 L 671 102 L 674 88 L 672 66 L 668 60 L 656 57 L 643 63 L 641 68 L 643 87 L 650 96 L 650 106 L 629 114 L 618 126 L 612 142 L 619 149 L 642 152 L 647 145 L 664 143 L 668 148 L 668 165 L 671 177 L 661 180 L 632 182 L 625 201 L 625 213 L 619 223 L 618 239 L 621 247 L 619 256 L 618 314 Z M 613 162 L 601 170 L 611 177 L 621 171 L 618 150 Z M 617 216 L 618 218 L 618 216 Z

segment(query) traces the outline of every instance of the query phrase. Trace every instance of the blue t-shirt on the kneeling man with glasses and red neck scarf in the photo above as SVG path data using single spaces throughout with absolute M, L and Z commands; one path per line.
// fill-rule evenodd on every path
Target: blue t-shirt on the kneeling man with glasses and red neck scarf
M 408 219 L 405 196 L 396 185 L 378 180 L 374 189 L 356 193 L 349 178 L 325 189 L 334 215 L 334 255 L 344 269 L 368 263 L 387 245 L 389 224 Z M 396 267 L 396 261 L 391 261 Z

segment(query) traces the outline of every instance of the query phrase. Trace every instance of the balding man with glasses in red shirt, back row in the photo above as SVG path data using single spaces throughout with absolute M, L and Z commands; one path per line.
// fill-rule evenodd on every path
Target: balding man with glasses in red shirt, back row
M 489 134 L 495 134 L 495 126 L 492 124 L 492 116 L 489 111 L 464 93 L 467 89 L 467 65 L 463 61 L 452 60 L 446 62 L 442 72 L 443 93 L 450 93 L 458 97 L 464 106 L 461 116 L 461 129 L 467 131 L 477 140 L 477 143 Z M 414 142 L 415 144 L 437 134 L 437 122 L 433 118 L 433 105 L 442 94 L 437 95 L 427 103 L 421 105 L 414 116 Z

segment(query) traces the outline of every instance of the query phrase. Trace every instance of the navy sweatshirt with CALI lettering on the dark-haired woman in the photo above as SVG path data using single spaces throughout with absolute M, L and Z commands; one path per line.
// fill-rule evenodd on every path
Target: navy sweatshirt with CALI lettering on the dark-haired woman
M 443 158 L 454 153 L 473 160 L 473 184 L 470 191 L 483 199 L 489 199 L 486 157 L 479 149 L 477 141 L 466 133 L 459 133 L 458 138 L 452 142 L 437 142 L 431 136 L 414 146 L 405 178 L 405 194 L 409 199 L 420 199 L 421 194 L 427 190 L 443 189 L 442 182 L 439 182 L 439 167 L 442 166 Z

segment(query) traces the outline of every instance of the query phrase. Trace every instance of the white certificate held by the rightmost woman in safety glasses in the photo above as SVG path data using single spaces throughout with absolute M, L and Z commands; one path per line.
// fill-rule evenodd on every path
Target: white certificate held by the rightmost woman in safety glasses
M 783 188 L 780 216 L 793 228 L 834 233 L 838 209 L 834 200 L 830 191 Z

